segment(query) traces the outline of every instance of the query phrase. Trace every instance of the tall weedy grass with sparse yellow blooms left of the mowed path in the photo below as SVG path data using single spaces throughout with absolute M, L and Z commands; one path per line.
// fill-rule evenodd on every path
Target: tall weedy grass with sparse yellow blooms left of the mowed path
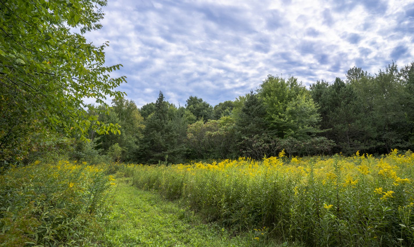
M 0 176 L 0 246 L 93 245 L 111 176 L 86 163 L 35 162 Z

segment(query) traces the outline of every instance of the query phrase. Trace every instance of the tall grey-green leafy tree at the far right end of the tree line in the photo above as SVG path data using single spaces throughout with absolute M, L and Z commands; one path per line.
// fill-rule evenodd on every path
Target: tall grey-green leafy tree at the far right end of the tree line
M 375 76 L 355 67 L 348 71 L 347 81 L 362 99 L 364 119 L 370 120 L 371 152 L 389 153 L 410 146 L 409 70 L 408 66 L 398 71 L 392 62 Z

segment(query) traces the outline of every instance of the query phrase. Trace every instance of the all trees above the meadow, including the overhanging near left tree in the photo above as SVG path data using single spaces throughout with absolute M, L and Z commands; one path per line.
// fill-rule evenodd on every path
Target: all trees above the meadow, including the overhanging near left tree
M 413 147 L 414 63 L 375 75 L 352 68 L 310 88 L 268 76 L 214 107 L 196 96 L 176 107 L 160 92 L 138 108 L 116 90 L 126 78 L 111 77 L 121 64 L 105 66 L 108 43 L 83 36 L 101 28 L 106 3 L 0 1 L 0 173 L 62 157 L 156 163 Z

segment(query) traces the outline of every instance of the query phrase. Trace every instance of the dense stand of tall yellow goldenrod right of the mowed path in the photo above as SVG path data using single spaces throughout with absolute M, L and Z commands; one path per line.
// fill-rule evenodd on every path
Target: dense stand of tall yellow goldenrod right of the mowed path
M 179 199 L 207 221 L 296 246 L 412 246 L 414 154 L 247 158 L 128 165 L 138 188 Z M 121 171 L 118 171 L 120 173 Z

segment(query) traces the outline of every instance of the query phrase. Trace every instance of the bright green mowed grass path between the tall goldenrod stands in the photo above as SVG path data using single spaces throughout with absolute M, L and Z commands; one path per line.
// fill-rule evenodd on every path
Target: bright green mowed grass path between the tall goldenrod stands
M 275 246 L 253 234 L 232 235 L 202 220 L 178 202 L 123 181 L 116 185 L 110 221 L 100 246 Z

